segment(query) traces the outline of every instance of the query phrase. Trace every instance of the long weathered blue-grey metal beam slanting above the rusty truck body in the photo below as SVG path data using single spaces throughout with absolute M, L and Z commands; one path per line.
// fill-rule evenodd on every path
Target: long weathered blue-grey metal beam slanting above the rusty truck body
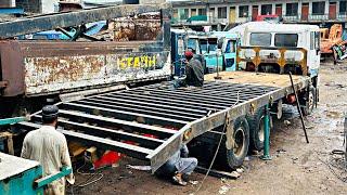
M 70 27 L 97 21 L 168 10 L 169 4 L 125 4 L 94 8 L 75 12 L 51 13 L 0 23 L 0 37 L 9 38 L 38 31 Z

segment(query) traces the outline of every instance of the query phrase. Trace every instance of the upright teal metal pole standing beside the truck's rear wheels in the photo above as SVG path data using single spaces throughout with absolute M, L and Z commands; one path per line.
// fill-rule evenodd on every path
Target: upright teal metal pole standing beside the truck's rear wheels
M 271 160 L 270 156 L 270 112 L 269 104 L 264 108 L 264 154 L 260 157 L 264 160 Z

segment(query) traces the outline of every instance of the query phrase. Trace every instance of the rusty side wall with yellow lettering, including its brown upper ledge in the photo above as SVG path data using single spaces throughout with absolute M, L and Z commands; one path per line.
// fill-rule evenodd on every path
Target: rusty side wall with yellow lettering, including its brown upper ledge
M 171 75 L 160 41 L 0 42 L 3 96 L 74 92 Z

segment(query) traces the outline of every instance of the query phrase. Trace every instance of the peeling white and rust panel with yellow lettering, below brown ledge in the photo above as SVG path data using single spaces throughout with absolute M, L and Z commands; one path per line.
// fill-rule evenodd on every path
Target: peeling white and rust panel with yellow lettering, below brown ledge
M 26 95 L 41 95 L 117 82 L 170 76 L 169 52 L 131 54 L 26 56 Z

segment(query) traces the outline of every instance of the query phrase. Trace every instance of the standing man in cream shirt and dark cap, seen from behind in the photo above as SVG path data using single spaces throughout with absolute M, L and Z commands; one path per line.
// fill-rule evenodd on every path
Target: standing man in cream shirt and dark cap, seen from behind
M 23 143 L 21 156 L 39 161 L 43 169 L 43 177 L 60 172 L 63 166 L 72 167 L 66 139 L 63 133 L 56 131 L 57 113 L 57 106 L 44 106 L 42 108 L 43 126 L 30 131 Z M 66 180 L 74 184 L 74 174 L 67 176 Z M 48 184 L 44 194 L 65 194 L 65 178 Z

